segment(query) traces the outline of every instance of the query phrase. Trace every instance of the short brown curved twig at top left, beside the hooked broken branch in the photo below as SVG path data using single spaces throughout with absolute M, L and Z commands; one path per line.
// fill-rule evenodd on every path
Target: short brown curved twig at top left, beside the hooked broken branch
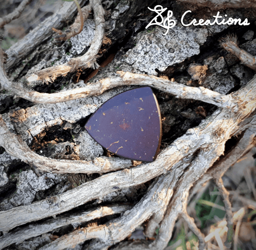
M 52 28 L 54 32 L 59 34 L 55 36 L 55 39 L 58 41 L 66 41 L 68 39 L 71 39 L 71 37 L 79 34 L 83 30 L 84 21 L 87 20 L 87 18 L 89 17 L 90 11 L 91 11 L 90 4 L 80 9 L 79 16 L 76 17 L 75 22 L 72 24 L 71 27 L 65 30 L 65 32 Z

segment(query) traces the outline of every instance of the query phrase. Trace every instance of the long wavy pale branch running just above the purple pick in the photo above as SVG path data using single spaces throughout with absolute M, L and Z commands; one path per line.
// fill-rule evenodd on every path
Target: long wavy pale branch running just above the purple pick
M 35 103 L 60 103 L 78 98 L 100 95 L 104 91 L 118 86 L 148 85 L 161 91 L 171 93 L 178 98 L 196 99 L 223 108 L 231 108 L 233 107 L 232 105 L 234 105 L 231 95 L 219 94 L 218 92 L 208 90 L 204 87 L 194 88 L 158 77 L 147 76 L 145 74 L 134 74 L 122 71 L 118 71 L 118 73 L 121 77 L 106 78 L 97 83 L 89 84 L 84 88 L 48 94 L 29 91 L 24 89 L 24 86 L 9 81 L 6 73 L 0 66 L 0 78 L 3 79 L 1 83 L 2 88 L 13 91 L 15 95 Z

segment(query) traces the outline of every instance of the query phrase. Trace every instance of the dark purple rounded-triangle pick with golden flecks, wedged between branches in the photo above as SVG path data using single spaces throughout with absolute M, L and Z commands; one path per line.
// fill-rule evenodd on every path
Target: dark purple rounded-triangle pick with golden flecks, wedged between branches
M 118 156 L 153 161 L 161 140 L 157 99 L 149 87 L 115 95 L 95 111 L 85 128 L 102 147 Z

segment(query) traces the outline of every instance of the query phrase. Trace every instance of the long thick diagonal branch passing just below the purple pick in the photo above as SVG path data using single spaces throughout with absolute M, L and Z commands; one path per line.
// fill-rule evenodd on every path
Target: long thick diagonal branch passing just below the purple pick
M 256 78 L 253 78 L 245 88 L 231 94 L 240 106 L 236 113 L 225 109 L 216 110 L 199 127 L 189 129 L 186 134 L 162 151 L 153 163 L 105 174 L 64 194 L 53 196 L 50 200 L 44 199 L 29 206 L 20 206 L 0 212 L 0 230 L 8 231 L 30 221 L 60 214 L 91 201 L 91 199 L 104 196 L 112 192 L 117 186 L 122 189 L 123 187 L 144 183 L 165 173 L 184 157 L 195 153 L 197 149 L 204 150 L 207 148 L 207 157 L 202 158 L 202 160 L 207 159 L 207 164 L 201 166 L 203 170 L 199 171 L 199 175 L 191 174 L 191 177 L 199 179 L 201 177 L 200 173 L 206 172 L 213 164 L 211 160 L 216 160 L 217 157 L 223 154 L 225 142 L 230 136 L 239 131 L 241 121 L 245 120 L 255 110 L 255 91 Z M 191 181 L 191 183 L 196 180 Z

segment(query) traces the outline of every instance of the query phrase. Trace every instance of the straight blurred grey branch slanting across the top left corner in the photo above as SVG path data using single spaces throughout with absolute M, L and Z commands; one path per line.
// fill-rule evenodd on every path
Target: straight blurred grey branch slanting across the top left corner
M 78 2 L 80 5 L 83 5 L 85 1 L 86 0 L 79 0 Z M 6 60 L 5 69 L 9 70 L 14 65 L 18 65 L 20 60 L 28 56 L 39 44 L 53 35 L 52 27 L 62 27 L 63 22 L 72 18 L 76 11 L 77 9 L 73 2 L 63 1 L 60 9 L 55 14 L 46 18 L 40 26 L 34 28 L 23 39 L 15 43 L 15 46 L 11 46 L 6 51 L 8 58 Z

